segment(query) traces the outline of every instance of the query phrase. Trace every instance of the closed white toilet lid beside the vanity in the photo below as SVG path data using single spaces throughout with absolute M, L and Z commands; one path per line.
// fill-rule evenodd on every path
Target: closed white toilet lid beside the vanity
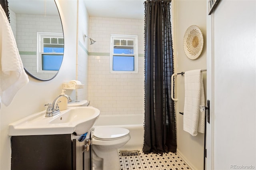
M 129 130 L 119 127 L 100 127 L 94 129 L 94 138 L 99 140 L 114 140 L 129 134 Z

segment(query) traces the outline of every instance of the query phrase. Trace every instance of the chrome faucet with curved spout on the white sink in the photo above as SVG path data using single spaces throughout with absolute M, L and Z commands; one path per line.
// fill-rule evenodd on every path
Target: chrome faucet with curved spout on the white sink
M 57 100 L 60 97 L 66 97 L 68 99 L 68 103 L 72 101 L 71 97 L 68 96 L 68 95 L 59 95 L 58 97 L 56 97 L 54 99 L 54 101 L 52 103 L 48 103 L 48 104 L 44 105 L 44 107 L 48 106 L 48 108 L 46 109 L 45 117 L 52 117 L 52 116 L 57 115 L 57 114 L 60 113 L 60 109 L 59 109 L 58 104 L 57 104 Z

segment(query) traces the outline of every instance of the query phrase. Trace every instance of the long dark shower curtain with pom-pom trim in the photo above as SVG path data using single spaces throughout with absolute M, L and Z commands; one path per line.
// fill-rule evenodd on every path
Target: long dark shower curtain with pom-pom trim
M 171 99 L 173 49 L 170 1 L 145 6 L 145 134 L 143 152 L 176 152 L 176 121 Z

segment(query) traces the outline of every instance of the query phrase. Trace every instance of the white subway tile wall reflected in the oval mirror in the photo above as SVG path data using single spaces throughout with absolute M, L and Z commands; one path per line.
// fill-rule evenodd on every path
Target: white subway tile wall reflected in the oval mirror
M 10 13 L 12 18 L 16 17 L 16 43 L 20 52 L 20 57 L 24 67 L 30 70 L 30 73 L 42 79 L 52 77 L 46 75 L 42 77 L 42 73 L 36 72 L 36 51 L 37 51 L 37 32 L 62 32 L 62 24 L 59 16 L 40 16 L 31 14 Z M 12 23 L 14 24 L 14 23 Z M 13 27 L 13 26 L 12 26 Z M 13 27 L 14 28 L 14 27 Z

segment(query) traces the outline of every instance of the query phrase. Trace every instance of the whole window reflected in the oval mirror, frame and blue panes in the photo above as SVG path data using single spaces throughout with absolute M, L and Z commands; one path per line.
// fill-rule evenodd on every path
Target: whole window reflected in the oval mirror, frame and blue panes
M 62 33 L 37 33 L 37 72 L 57 73 L 64 53 Z

